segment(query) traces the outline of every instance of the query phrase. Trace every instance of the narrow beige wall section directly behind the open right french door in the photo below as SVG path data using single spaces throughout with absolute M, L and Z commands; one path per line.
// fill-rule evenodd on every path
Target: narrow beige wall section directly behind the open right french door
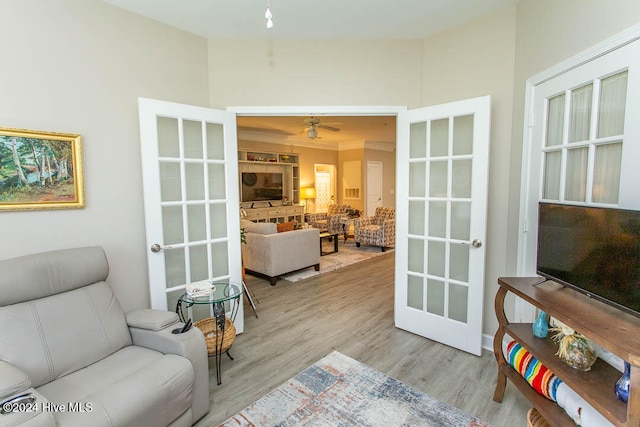
M 509 159 L 513 106 L 515 7 L 441 33 L 424 44 L 423 102 L 491 96 L 484 332 L 498 327 L 493 300 L 507 270 Z M 473 274 L 473 272 L 471 272 Z

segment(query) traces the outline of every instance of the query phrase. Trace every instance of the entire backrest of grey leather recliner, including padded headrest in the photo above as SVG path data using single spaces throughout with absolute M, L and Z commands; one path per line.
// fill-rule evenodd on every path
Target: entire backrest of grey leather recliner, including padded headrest
M 99 247 L 0 261 L 0 359 L 38 387 L 131 345 L 108 273 Z

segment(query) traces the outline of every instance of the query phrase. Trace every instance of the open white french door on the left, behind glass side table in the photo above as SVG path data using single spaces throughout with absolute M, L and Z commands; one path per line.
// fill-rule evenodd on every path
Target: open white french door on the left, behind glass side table
M 242 283 L 236 119 L 144 98 L 139 114 L 151 307 L 173 310 L 188 283 Z

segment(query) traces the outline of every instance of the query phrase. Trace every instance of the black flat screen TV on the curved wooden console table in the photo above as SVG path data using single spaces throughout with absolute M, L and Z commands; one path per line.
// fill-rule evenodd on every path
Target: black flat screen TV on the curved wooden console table
M 541 202 L 537 272 L 640 317 L 640 211 Z

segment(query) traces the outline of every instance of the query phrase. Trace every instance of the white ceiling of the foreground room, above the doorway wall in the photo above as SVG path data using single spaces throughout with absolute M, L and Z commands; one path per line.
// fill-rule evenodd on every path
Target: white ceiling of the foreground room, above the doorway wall
M 518 0 L 103 0 L 207 38 L 423 39 Z M 271 3 L 273 28 L 265 11 Z

